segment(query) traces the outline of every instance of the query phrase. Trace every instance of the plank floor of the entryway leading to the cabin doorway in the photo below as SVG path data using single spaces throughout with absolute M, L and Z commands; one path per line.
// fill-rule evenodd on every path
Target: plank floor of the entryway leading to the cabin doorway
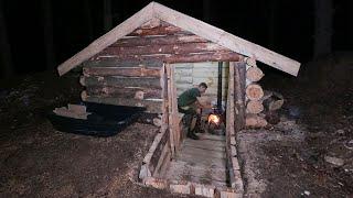
M 200 140 L 185 139 L 171 162 L 165 179 L 188 180 L 215 187 L 227 186 L 225 136 L 199 134 Z

